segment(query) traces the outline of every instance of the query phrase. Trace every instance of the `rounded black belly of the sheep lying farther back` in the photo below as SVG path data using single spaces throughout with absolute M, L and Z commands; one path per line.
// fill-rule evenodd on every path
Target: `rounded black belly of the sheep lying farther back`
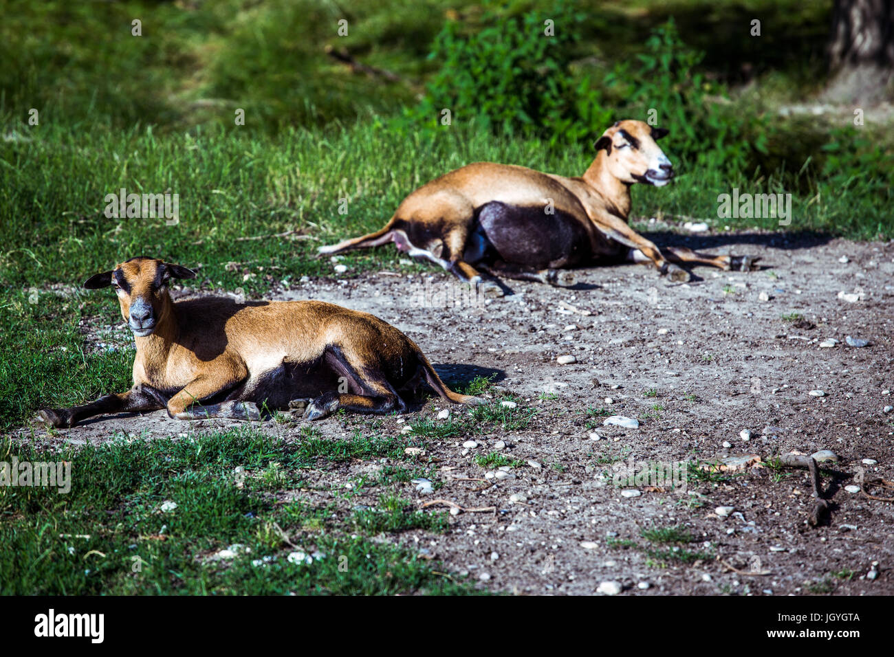
M 492 201 L 477 209 L 476 235 L 484 240 L 483 259 L 498 258 L 533 269 L 592 264 L 620 257 L 623 246 L 600 234 L 591 236 L 578 219 L 544 206 L 510 206 Z M 594 240 L 595 247 L 594 248 Z

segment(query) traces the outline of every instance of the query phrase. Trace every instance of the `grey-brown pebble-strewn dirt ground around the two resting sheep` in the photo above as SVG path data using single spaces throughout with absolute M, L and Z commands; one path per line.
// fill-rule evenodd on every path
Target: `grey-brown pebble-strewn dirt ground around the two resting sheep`
M 894 390 L 894 244 L 787 243 L 755 233 L 658 240 L 727 245 L 762 256 L 766 268 L 699 267 L 701 280 L 686 284 L 671 284 L 643 265 L 597 268 L 581 271 L 575 290 L 510 282 L 514 295 L 486 301 L 434 270 L 349 271 L 342 280 L 333 274 L 274 295 L 374 313 L 417 341 L 444 378 L 493 373 L 495 383 L 538 410 L 525 431 L 485 436 L 477 448 L 430 441 L 429 456 L 440 459 L 445 481 L 434 495 L 402 484 L 401 494 L 419 504 L 443 498 L 495 512 L 451 516 L 447 535 L 409 532 L 384 540 L 423 549 L 481 585 L 519 593 L 592 594 L 614 580 L 634 594 L 894 594 L 894 504 L 844 488 L 860 471 L 866 479 L 894 479 L 894 412 L 883 412 L 894 405 L 888 392 Z M 848 346 L 848 335 L 869 344 Z M 822 347 L 828 339 L 838 342 Z M 561 355 L 576 362 L 560 365 Z M 419 412 L 434 417 L 440 408 L 433 400 Z M 586 416 L 590 408 L 637 418 L 639 427 L 603 426 L 603 417 Z M 271 433 L 298 431 L 265 426 Z M 335 418 L 318 426 L 324 435 L 348 435 Z M 387 417 L 382 431 L 400 434 L 402 426 Z M 60 436 L 84 442 L 115 431 L 186 430 L 159 412 L 105 418 Z M 747 442 L 743 431 L 751 433 Z M 493 471 L 473 459 L 497 441 L 524 465 L 488 480 Z M 839 476 L 824 478 L 833 500 L 829 526 L 805 524 L 812 500 L 803 471 L 749 468 L 676 491 L 638 484 L 629 486 L 640 493 L 634 497 L 622 496 L 628 487 L 613 481 L 628 459 L 673 464 L 755 454 L 767 460 L 796 450 L 839 456 L 832 466 Z M 377 466 L 358 463 L 318 476 L 338 485 L 370 467 Z M 734 510 L 722 518 L 717 507 Z M 695 540 L 675 551 L 672 543 L 641 535 L 653 526 L 682 526 Z M 721 560 L 765 574 L 733 572 Z M 865 578 L 876 560 L 879 576 Z M 642 582 L 649 587 L 637 587 Z

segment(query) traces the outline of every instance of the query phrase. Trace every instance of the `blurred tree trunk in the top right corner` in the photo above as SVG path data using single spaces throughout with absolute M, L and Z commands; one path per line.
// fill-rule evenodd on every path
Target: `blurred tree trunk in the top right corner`
M 894 0 L 835 0 L 829 100 L 872 105 L 891 97 Z

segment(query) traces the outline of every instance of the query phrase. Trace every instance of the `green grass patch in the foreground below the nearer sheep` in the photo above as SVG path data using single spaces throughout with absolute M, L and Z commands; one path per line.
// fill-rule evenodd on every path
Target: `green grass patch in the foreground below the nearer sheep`
M 0 447 L 8 459 L 9 443 Z M 436 573 L 436 563 L 369 540 L 409 528 L 443 532 L 443 512 L 409 510 L 408 502 L 383 493 L 375 509 L 341 518 L 333 505 L 270 495 L 299 487 L 308 458 L 337 459 L 342 452 L 308 451 L 240 429 L 181 440 L 119 437 L 62 451 L 20 446 L 14 453 L 22 460 L 70 460 L 72 489 L 0 490 L 0 594 L 471 591 Z M 360 444 L 354 453 L 369 450 Z M 163 501 L 177 507 L 162 512 Z M 250 552 L 208 559 L 234 543 Z M 325 557 L 292 563 L 292 552 Z

